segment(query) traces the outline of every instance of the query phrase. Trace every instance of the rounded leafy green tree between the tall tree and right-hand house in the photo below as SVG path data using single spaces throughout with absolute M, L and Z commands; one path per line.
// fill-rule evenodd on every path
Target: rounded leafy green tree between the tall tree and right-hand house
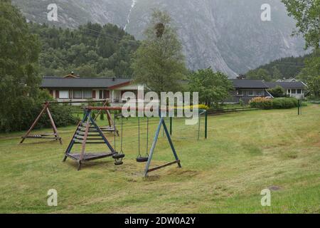
M 213 72 L 211 68 L 192 73 L 188 86 L 191 92 L 199 93 L 199 103 L 214 104 L 218 107 L 225 98 L 228 98 L 233 84 L 224 73 Z

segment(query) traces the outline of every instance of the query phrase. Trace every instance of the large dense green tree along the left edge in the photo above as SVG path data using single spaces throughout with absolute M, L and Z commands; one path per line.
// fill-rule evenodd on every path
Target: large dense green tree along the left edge
M 0 1 L 0 12 L 0 130 L 11 130 L 38 96 L 40 43 L 11 1 Z

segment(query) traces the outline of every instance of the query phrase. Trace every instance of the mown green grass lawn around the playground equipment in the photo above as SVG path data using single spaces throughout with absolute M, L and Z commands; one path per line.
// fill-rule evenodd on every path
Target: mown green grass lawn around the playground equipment
M 201 120 L 203 123 L 203 120 Z M 100 125 L 101 120 L 99 120 Z M 149 145 L 158 119 L 151 120 Z M 145 150 L 142 121 L 142 151 Z M 75 126 L 59 128 L 63 145 L 0 135 L 1 213 L 319 213 L 320 106 L 253 110 L 208 117 L 208 139 L 197 141 L 197 126 L 174 120 L 176 165 L 142 178 L 137 157 L 137 119 L 124 120 L 124 165 L 111 158 L 82 165 L 62 162 Z M 46 130 L 36 131 L 46 132 Z M 107 135 L 113 143 L 113 136 Z M 38 142 L 38 143 L 36 143 Z M 117 138 L 117 146 L 119 138 Z M 87 145 L 105 151 L 105 145 Z M 90 148 L 91 147 L 91 148 Z M 80 148 L 79 146 L 77 147 Z M 76 151 L 76 149 L 74 151 Z M 151 165 L 174 157 L 162 133 Z M 260 204 L 272 190 L 271 206 Z M 58 207 L 48 207 L 47 191 L 58 191 Z

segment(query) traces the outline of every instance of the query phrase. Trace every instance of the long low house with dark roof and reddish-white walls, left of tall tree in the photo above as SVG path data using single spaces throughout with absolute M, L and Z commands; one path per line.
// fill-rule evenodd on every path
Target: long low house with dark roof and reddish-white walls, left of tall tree
M 122 94 L 137 94 L 138 86 L 129 78 L 79 78 L 68 75 L 63 78 L 45 76 L 41 88 L 47 89 L 58 101 L 110 100 L 122 103 Z

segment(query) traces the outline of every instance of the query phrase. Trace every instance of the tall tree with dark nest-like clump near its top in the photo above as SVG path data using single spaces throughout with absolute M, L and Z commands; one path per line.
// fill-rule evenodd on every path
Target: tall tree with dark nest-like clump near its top
M 135 81 L 158 94 L 178 90 L 186 67 L 181 42 L 169 14 L 155 10 L 144 35 L 146 39 L 132 63 Z

